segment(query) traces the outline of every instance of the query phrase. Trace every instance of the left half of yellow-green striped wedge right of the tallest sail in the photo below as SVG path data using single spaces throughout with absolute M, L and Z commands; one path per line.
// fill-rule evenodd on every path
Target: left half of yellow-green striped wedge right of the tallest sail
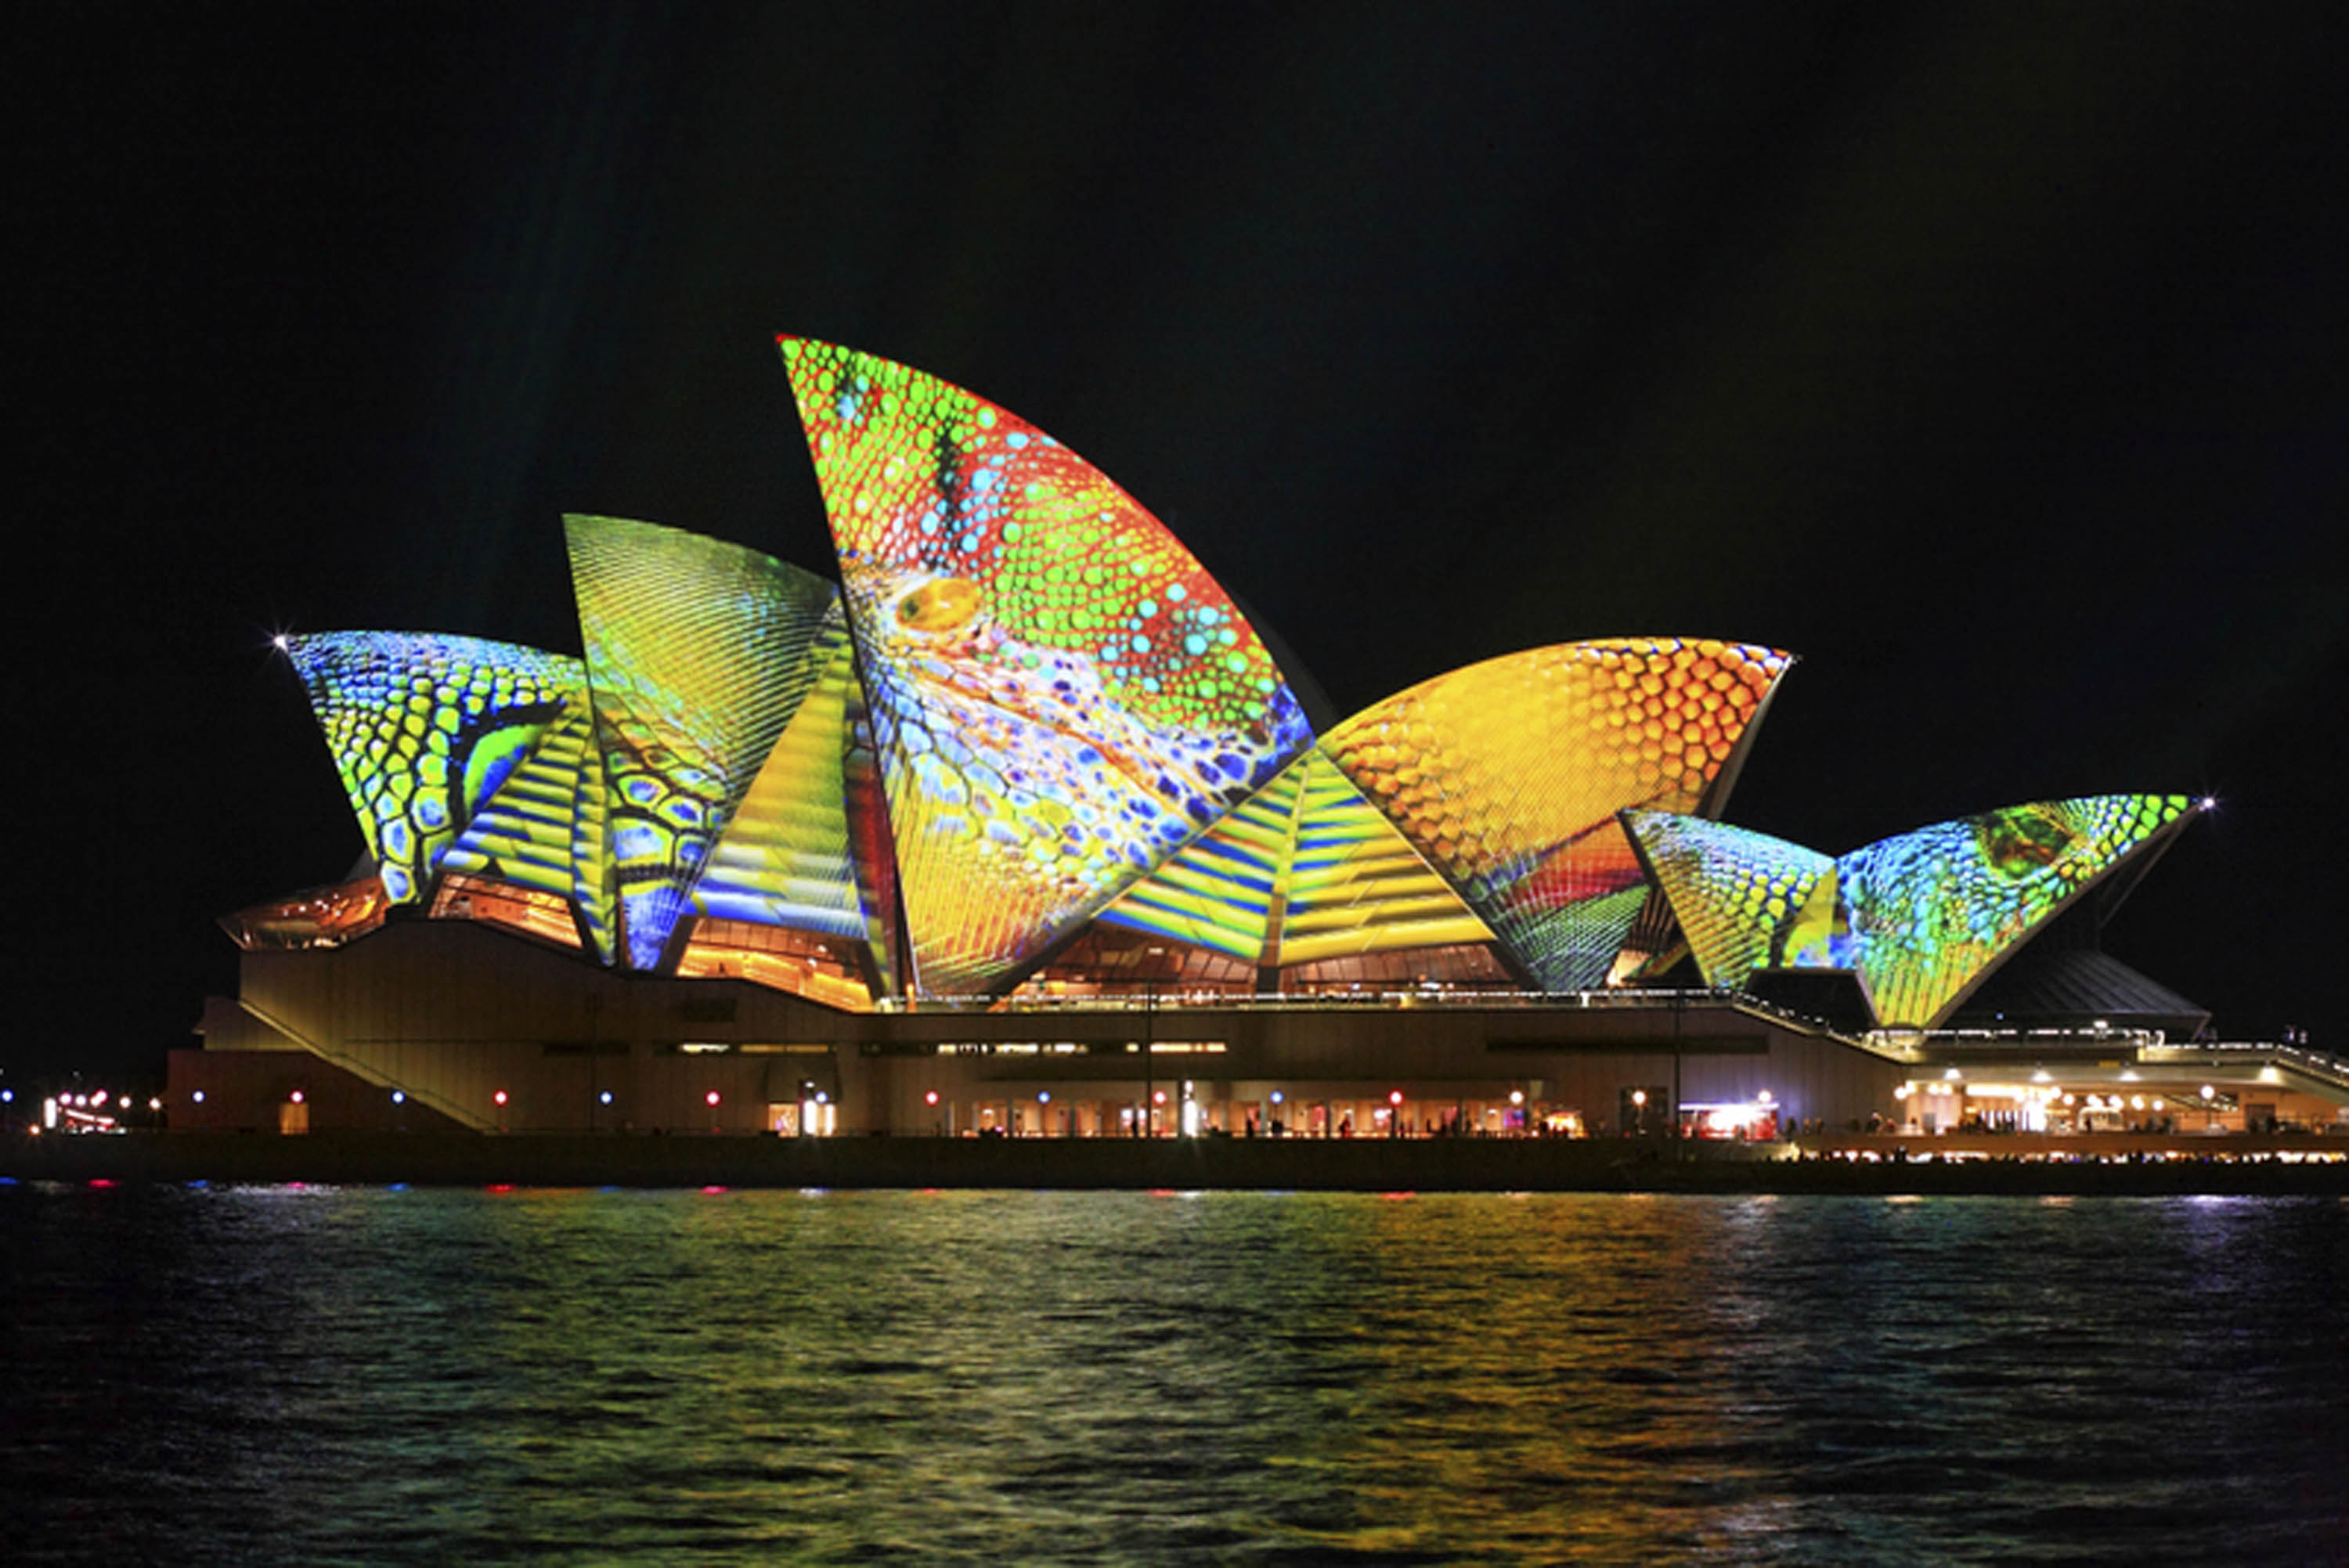
M 1280 880 L 1297 840 L 1297 803 L 1313 753 L 1193 838 L 1102 911 L 1120 925 L 1212 948 L 1247 965 L 1266 962 Z

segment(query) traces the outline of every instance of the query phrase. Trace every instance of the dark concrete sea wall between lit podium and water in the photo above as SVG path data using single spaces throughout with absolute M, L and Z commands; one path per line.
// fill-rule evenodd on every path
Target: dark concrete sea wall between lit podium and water
M 2335 1141 L 2337 1143 L 2337 1141 Z M 1788 1160 L 1626 1138 L 756 1138 L 707 1134 L 132 1134 L 9 1138 L 0 1176 L 117 1183 L 1031 1188 L 1297 1192 L 2013 1192 L 2349 1197 L 2349 1162 Z M 2206 1155 L 2217 1148 L 2203 1145 Z M 2241 1157 L 2253 1155 L 2253 1157 Z

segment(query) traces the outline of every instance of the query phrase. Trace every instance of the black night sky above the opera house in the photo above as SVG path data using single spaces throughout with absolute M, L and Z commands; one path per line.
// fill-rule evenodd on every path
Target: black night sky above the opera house
M 1339 711 L 1804 657 L 1734 822 L 2217 793 L 2109 934 L 2349 1047 L 2349 12 L 31 7 L 16 941 L 120 1070 L 359 852 L 277 629 L 578 650 L 559 514 L 832 570 L 773 333 L 1036 420 Z

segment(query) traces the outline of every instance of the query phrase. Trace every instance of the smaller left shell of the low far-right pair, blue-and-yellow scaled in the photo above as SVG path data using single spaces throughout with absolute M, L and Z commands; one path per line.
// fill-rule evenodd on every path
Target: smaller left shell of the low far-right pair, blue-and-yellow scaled
M 1736 991 L 1755 969 L 1825 958 L 1835 930 L 1825 854 L 1703 817 L 1623 812 L 1623 826 L 1708 986 Z

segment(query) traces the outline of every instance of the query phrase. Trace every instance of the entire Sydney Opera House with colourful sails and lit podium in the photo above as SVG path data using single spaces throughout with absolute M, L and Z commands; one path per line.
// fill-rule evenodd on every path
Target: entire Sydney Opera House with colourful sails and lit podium
M 2203 803 L 1842 854 L 1738 829 L 1795 660 L 1698 636 L 1327 723 L 1066 446 L 782 359 L 836 580 L 571 516 L 580 657 L 284 641 L 366 850 L 223 922 L 240 995 L 174 1054 L 174 1127 L 1931 1131 L 2095 1127 L 2123 1082 L 2138 1117 L 2260 1113 L 2163 1073 L 2206 1014 L 2098 944 Z

